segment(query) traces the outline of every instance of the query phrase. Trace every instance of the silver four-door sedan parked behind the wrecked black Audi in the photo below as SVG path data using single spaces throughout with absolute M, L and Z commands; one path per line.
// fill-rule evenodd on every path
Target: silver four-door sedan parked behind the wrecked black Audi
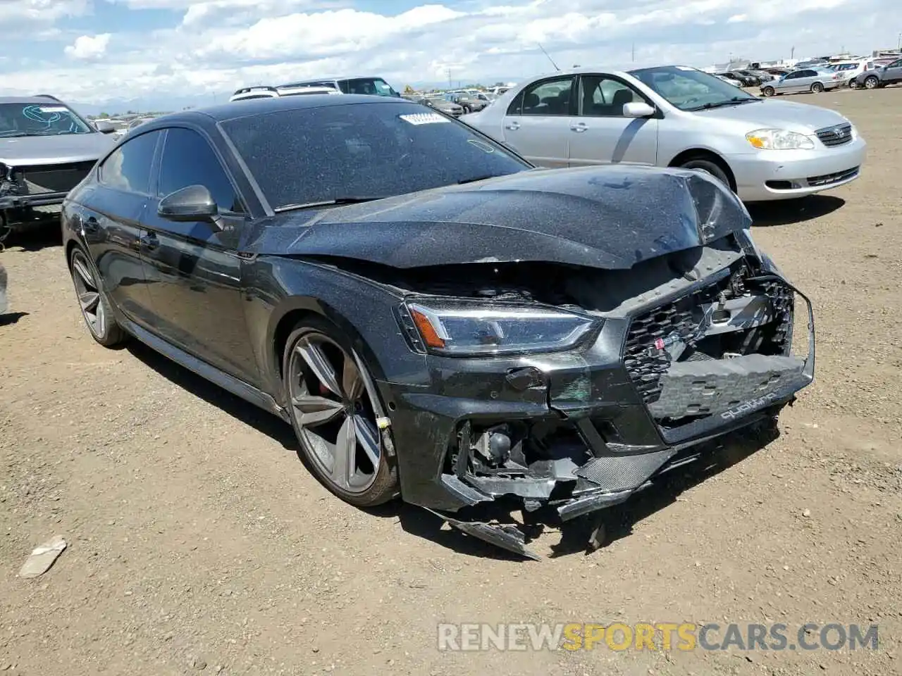
M 686 66 L 529 78 L 461 119 L 539 167 L 702 169 L 746 202 L 850 183 L 866 150 L 839 113 L 752 96 Z

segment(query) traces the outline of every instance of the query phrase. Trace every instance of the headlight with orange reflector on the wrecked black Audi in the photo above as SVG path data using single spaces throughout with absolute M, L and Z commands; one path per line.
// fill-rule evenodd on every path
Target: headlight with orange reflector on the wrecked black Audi
M 400 320 L 417 349 L 451 356 L 566 350 L 601 324 L 553 307 L 467 300 L 406 303 Z

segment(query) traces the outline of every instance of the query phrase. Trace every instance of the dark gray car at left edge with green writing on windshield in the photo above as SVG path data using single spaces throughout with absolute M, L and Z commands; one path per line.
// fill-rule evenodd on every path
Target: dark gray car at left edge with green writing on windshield
M 63 198 L 115 143 L 59 99 L 0 97 L 0 241 L 60 213 Z

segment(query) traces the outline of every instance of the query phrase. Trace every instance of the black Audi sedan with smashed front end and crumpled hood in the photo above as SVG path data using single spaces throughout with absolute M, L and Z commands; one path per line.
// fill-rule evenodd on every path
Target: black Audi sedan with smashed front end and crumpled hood
M 814 378 L 797 298 L 703 172 L 535 169 L 377 96 L 130 132 L 63 205 L 94 339 L 137 338 L 293 425 L 339 498 L 399 497 L 516 552 L 494 500 L 567 522 Z

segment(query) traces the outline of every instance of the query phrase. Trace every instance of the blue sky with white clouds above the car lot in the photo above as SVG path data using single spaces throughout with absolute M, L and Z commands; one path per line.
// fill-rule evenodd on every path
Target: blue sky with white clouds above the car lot
M 202 103 L 378 73 L 492 84 L 558 65 L 707 66 L 897 46 L 899 0 L 0 0 L 0 94 Z

